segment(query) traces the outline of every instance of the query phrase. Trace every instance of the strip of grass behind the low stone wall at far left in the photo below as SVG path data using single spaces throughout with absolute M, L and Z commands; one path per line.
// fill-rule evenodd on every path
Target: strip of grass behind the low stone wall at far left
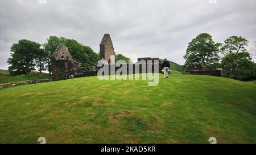
M 5 83 L 16 83 L 20 81 L 30 81 L 30 80 L 40 80 L 51 78 L 48 74 L 42 73 L 41 75 L 38 72 L 31 72 L 31 75 L 21 75 L 21 76 L 9 76 L 0 74 L 0 84 Z

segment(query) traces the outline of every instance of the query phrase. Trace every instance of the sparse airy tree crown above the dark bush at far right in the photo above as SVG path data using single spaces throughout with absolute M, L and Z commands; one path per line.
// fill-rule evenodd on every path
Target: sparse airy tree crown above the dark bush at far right
M 246 51 L 245 46 L 247 46 L 248 43 L 249 41 L 247 41 L 245 38 L 242 38 L 241 36 L 232 36 L 224 41 L 224 45 L 221 48 L 221 52 L 224 55 L 234 52 L 238 53 L 239 51 L 243 52 Z

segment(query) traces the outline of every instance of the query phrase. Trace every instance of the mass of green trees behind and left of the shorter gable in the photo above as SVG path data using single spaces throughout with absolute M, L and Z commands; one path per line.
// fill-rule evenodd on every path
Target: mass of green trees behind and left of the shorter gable
M 32 70 L 35 70 L 35 67 L 39 69 L 39 72 L 48 69 L 51 74 L 51 55 L 60 43 L 67 46 L 75 61 L 80 62 L 82 66 L 89 67 L 91 70 L 94 70 L 100 60 L 100 55 L 89 46 L 84 46 L 73 39 L 50 36 L 47 38 L 47 42 L 42 45 L 34 41 L 19 40 L 18 43 L 11 46 L 11 52 L 13 53 L 7 61 L 10 64 L 10 74 L 28 75 Z M 43 49 L 40 46 L 43 46 Z

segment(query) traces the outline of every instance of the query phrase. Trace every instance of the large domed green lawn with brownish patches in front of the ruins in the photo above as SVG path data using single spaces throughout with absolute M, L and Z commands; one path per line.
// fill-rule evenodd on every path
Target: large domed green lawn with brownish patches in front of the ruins
M 256 143 L 256 84 L 171 74 L 0 90 L 0 143 Z

